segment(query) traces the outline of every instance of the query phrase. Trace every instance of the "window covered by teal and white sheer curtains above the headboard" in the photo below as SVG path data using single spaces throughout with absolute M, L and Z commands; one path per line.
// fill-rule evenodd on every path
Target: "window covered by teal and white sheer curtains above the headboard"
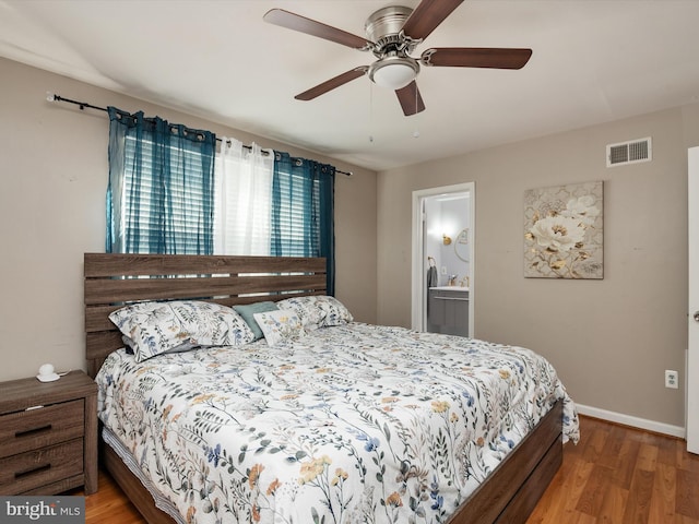
M 107 252 L 324 257 L 335 168 L 108 108 Z M 235 150 L 235 151 L 229 151 Z

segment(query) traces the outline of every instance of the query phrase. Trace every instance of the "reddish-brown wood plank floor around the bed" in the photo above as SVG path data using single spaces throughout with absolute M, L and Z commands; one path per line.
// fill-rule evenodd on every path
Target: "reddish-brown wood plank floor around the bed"
M 685 441 L 589 417 L 580 425 L 526 524 L 699 524 L 699 455 Z M 145 523 L 104 472 L 85 512 L 86 524 Z

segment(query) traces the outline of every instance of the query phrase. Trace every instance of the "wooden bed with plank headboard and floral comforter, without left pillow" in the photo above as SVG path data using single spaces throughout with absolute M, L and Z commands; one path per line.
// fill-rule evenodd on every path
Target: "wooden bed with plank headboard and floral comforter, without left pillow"
M 340 320 L 309 327 L 307 310 L 292 306 L 335 303 L 324 267 L 311 258 L 86 253 L 86 360 L 105 409 L 103 466 L 152 524 L 525 522 L 564 441 L 578 437 L 555 370 L 523 348 L 354 322 L 340 302 L 325 318 Z M 284 305 L 306 336 L 138 362 L 109 320 L 128 305 L 189 300 Z M 507 393 L 530 366 L 540 383 L 526 386 L 531 398 Z M 471 390 L 464 377 L 503 389 Z M 244 434 L 230 437 L 229 426 Z

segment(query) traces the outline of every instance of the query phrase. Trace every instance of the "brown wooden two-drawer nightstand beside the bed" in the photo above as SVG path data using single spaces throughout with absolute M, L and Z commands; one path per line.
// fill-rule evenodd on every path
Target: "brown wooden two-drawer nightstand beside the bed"
M 97 491 L 97 384 L 82 371 L 55 382 L 0 382 L 0 495 Z

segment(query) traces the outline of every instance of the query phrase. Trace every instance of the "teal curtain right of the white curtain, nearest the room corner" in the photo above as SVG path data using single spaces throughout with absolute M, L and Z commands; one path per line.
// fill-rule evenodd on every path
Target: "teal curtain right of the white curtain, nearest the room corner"
M 335 293 L 335 168 L 275 153 L 271 254 L 324 257 L 328 294 Z

